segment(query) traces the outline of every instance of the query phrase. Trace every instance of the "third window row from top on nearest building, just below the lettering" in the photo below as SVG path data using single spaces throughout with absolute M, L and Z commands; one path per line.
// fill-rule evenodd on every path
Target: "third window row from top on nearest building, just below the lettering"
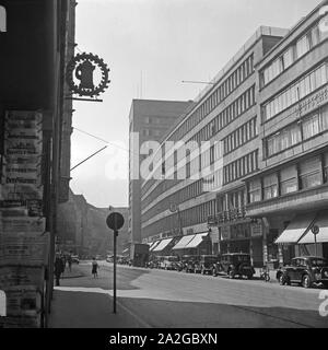
M 284 129 L 276 132 L 273 136 L 267 138 L 263 141 L 265 155 L 266 158 L 270 158 L 327 130 L 328 105 L 317 109 L 309 116 L 302 118 L 302 120 L 289 125 Z

